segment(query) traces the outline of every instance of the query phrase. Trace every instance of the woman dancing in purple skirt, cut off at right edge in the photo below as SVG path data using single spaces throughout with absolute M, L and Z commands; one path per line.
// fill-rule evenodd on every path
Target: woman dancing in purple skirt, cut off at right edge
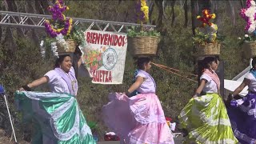
M 242 84 L 229 95 L 229 100 L 233 100 L 227 109 L 234 135 L 242 144 L 256 143 L 256 57 L 252 66 Z M 249 87 L 246 97 L 238 96 L 246 86 Z

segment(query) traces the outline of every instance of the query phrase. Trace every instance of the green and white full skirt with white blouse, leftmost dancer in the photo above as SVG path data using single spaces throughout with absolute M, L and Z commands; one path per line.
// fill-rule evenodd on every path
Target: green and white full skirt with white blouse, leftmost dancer
M 22 111 L 24 121 L 33 119 L 36 131 L 32 143 L 95 144 L 90 127 L 87 126 L 75 98 L 78 82 L 74 77 L 74 68 L 70 69 L 69 75 L 57 68 L 50 70 L 46 76 L 54 93 L 15 93 L 15 101 Z

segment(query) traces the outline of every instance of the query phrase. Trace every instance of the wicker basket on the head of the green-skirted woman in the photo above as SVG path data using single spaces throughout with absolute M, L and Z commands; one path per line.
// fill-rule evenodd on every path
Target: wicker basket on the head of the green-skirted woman
M 65 47 L 57 42 L 58 53 L 74 53 L 75 47 L 77 46 L 76 42 L 73 39 L 66 39 L 66 45 L 68 46 L 68 50 L 65 50 Z

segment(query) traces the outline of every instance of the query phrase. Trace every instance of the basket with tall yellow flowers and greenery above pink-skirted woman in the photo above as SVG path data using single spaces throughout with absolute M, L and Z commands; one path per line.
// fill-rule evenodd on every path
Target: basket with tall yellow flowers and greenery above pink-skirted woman
M 134 57 L 155 55 L 160 33 L 143 27 L 143 24 L 149 20 L 149 7 L 146 6 L 146 0 L 137 0 L 135 10 L 137 21 L 141 26 L 139 28 L 132 26 L 132 29 L 128 30 L 128 50 Z

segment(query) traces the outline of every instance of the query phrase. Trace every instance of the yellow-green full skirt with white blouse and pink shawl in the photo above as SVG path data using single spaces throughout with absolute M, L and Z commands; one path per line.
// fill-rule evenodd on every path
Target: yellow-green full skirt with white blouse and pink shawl
M 184 143 L 235 144 L 230 119 L 222 98 L 218 95 L 219 79 L 217 74 L 205 70 L 200 80 L 206 79 L 203 88 L 205 95 L 191 98 L 183 108 L 178 119 L 182 128 L 188 130 Z

